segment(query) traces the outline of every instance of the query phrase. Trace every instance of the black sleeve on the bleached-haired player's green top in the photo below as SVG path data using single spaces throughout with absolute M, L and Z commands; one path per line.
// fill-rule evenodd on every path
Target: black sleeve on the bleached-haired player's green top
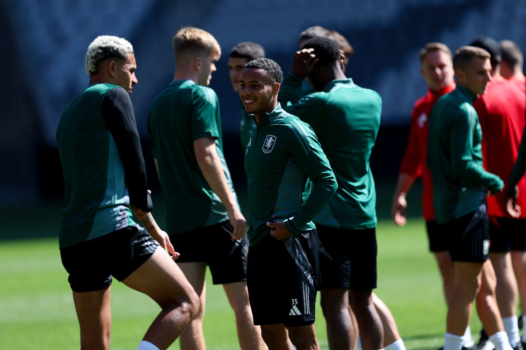
M 120 88 L 108 91 L 102 102 L 101 111 L 124 165 L 130 205 L 149 213 L 153 205 L 147 192 L 143 151 L 128 93 Z

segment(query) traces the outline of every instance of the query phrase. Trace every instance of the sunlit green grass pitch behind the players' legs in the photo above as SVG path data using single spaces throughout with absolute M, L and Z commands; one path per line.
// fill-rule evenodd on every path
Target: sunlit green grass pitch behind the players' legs
M 377 232 L 376 293 L 395 316 L 408 350 L 440 347 L 446 307 L 423 221 L 412 218 L 406 227 L 400 228 L 391 221 L 380 220 Z M 57 239 L 1 241 L 0 266 L 0 347 L 78 348 L 78 323 Z M 211 284 L 210 275 L 207 284 L 204 322 L 207 348 L 238 349 L 234 314 L 225 293 L 220 285 Z M 158 312 L 159 307 L 147 296 L 114 280 L 112 348 L 135 348 Z M 319 302 L 316 313 L 318 339 L 321 347 L 327 349 Z M 471 327 L 474 335 L 480 330 L 476 316 Z M 177 344 L 171 346 L 178 348 Z

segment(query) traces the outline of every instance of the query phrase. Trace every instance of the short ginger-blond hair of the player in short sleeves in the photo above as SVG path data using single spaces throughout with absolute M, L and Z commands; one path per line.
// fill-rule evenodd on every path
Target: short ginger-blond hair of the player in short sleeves
M 190 51 L 193 54 L 217 54 L 221 56 L 221 47 L 216 38 L 208 31 L 196 27 L 183 27 L 179 29 L 171 43 L 174 45 L 175 59 L 183 53 Z

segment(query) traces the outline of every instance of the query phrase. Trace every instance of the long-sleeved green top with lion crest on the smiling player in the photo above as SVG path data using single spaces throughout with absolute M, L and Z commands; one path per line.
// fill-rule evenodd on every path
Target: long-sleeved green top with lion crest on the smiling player
M 315 229 L 312 218 L 338 187 L 314 131 L 279 103 L 272 112 L 261 113 L 250 132 L 245 170 L 250 245 L 269 234 L 268 221 L 286 221 L 293 235 Z

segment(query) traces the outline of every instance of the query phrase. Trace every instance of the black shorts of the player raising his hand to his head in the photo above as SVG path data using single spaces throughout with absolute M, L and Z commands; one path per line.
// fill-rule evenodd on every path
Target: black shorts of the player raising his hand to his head
M 349 230 L 316 225 L 320 239 L 319 289 L 376 288 L 376 228 Z

